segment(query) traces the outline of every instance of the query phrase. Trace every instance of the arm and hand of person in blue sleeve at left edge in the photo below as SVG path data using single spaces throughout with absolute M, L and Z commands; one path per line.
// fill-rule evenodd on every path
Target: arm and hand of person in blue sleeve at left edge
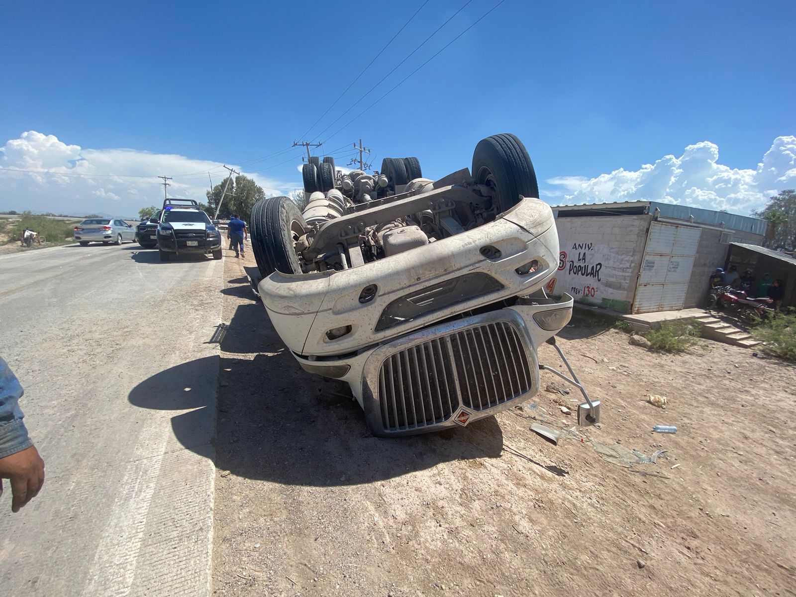
M 27 504 L 45 482 L 45 462 L 39 456 L 22 423 L 18 401 L 22 386 L 0 357 L 0 495 L 2 479 L 11 484 L 11 511 Z

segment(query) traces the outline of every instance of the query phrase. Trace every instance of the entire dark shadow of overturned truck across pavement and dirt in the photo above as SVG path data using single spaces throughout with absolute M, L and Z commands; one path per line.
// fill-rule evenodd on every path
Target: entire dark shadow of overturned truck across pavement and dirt
M 237 306 L 220 345 L 224 357 L 166 369 L 129 396 L 140 408 L 193 409 L 172 418 L 174 435 L 183 446 L 209 457 L 201 438 L 213 419 L 207 411 L 216 397 L 184 388 L 196 388 L 210 368 L 220 368 L 214 441 L 220 470 L 287 485 L 347 486 L 440 462 L 499 458 L 503 450 L 501 428 L 491 417 L 441 433 L 373 437 L 348 384 L 304 372 L 259 302 Z

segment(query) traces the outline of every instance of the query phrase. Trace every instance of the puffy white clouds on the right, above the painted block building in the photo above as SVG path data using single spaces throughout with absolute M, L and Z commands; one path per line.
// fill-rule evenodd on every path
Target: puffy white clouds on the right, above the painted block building
M 666 155 L 638 170 L 548 178 L 553 188 L 542 194 L 561 197 L 561 205 L 661 201 L 747 214 L 763 208 L 779 190 L 796 187 L 796 137 L 777 137 L 755 170 L 730 168 L 718 160 L 718 146 L 702 141 L 686 147 L 679 158 Z

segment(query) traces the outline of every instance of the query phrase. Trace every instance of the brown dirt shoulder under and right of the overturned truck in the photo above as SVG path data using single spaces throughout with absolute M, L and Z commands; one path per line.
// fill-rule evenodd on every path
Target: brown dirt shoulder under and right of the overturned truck
M 560 412 L 572 388 L 377 439 L 346 384 L 298 367 L 244 265 L 224 264 L 214 594 L 796 595 L 792 365 L 712 342 L 661 356 L 568 327 L 560 345 L 603 400 L 601 429 L 557 447 L 529 431 L 575 425 Z M 626 467 L 595 446 L 668 452 Z

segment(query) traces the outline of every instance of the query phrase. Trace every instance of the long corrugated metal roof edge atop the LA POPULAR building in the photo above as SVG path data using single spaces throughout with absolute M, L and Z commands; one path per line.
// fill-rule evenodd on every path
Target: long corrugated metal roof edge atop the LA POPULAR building
M 659 201 L 615 201 L 613 203 L 582 203 L 579 205 L 556 205 L 552 209 L 557 209 L 560 212 L 587 212 L 591 210 L 600 212 L 615 213 L 611 215 L 621 216 L 630 215 L 630 213 L 654 213 L 655 209 L 660 210 L 661 217 L 669 217 L 674 220 L 691 221 L 695 224 L 708 224 L 710 226 L 720 227 L 724 224 L 724 228 L 728 230 L 737 230 L 739 232 L 751 232 L 765 236 L 768 222 L 756 217 L 739 216 L 736 213 L 717 212 L 713 209 L 701 209 L 698 207 L 689 207 L 689 205 L 675 205 L 673 203 L 661 203 Z M 572 214 L 575 215 L 575 214 Z M 585 215 L 578 213 L 577 215 Z

